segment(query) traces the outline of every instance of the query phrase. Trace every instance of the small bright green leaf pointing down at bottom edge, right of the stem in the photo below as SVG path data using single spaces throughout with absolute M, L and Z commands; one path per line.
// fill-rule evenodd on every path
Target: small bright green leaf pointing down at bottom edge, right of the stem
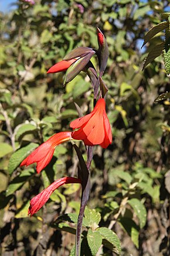
M 89 244 L 91 254 L 93 256 L 96 256 L 98 249 L 100 248 L 100 245 L 102 244 L 102 236 L 100 232 L 98 231 L 92 231 L 91 228 L 89 228 L 87 232 L 87 242 Z

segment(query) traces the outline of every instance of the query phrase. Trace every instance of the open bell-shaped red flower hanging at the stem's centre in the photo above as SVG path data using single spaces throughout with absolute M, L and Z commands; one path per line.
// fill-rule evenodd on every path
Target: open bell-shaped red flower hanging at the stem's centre
M 89 115 L 77 118 L 70 123 L 73 129 L 73 139 L 82 139 L 85 145 L 100 145 L 107 148 L 112 141 L 110 122 L 106 114 L 106 103 L 103 98 L 98 99 L 96 106 Z

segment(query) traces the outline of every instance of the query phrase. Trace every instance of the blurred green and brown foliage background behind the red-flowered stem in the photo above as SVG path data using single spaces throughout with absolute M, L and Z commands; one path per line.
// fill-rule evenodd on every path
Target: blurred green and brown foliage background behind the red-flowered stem
M 35 166 L 19 164 L 37 144 L 69 129 L 77 117 L 73 102 L 84 114 L 92 109 L 83 72 L 63 88 L 64 73 L 46 71 L 77 46 L 97 48 L 98 26 L 109 48 L 103 79 L 113 144 L 94 149 L 88 206 L 100 212 L 100 227 L 118 235 L 121 255 L 169 255 L 169 101 L 154 103 L 169 90 L 169 77 L 162 56 L 142 71 L 147 52 L 164 41 L 163 32 L 142 51 L 139 46 L 148 29 L 162 21 L 168 1 L 37 0 L 15 6 L 0 13 L 1 254 L 69 255 L 72 250 L 74 235 L 53 227 L 60 215 L 78 211 L 79 185 L 58 189 L 42 211 L 27 217 L 33 195 L 57 178 L 76 175 L 72 144 L 58 146 L 40 175 Z M 111 254 L 106 247 L 98 252 Z

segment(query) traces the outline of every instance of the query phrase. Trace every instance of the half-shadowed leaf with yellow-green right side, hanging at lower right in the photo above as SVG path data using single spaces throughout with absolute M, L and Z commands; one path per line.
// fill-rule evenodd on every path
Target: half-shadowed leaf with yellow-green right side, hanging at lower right
M 139 228 L 137 224 L 135 224 L 134 221 L 132 221 L 130 218 L 121 218 L 120 224 L 124 228 L 124 230 L 130 235 L 132 242 L 134 242 L 135 246 L 138 248 L 138 237 L 139 237 Z

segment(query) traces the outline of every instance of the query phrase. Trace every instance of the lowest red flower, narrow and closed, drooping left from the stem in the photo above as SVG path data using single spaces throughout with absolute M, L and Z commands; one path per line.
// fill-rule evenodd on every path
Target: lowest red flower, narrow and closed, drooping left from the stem
M 70 184 L 70 183 L 80 183 L 81 179 L 73 178 L 73 177 L 64 177 L 61 179 L 57 179 L 57 181 L 53 182 L 49 187 L 44 189 L 40 194 L 36 195 L 35 197 L 30 200 L 30 206 L 28 209 L 28 215 L 30 214 L 30 217 L 38 212 L 40 208 L 43 207 L 43 205 L 49 200 L 50 195 L 52 194 L 55 189 L 59 188 L 60 186 L 64 184 Z

